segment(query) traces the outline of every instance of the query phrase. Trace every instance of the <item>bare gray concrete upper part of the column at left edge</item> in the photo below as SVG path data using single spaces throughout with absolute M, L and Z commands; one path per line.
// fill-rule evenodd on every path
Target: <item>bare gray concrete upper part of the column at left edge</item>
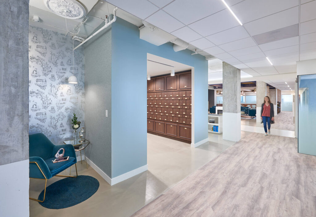
M 0 1 L 0 165 L 28 159 L 28 1 Z

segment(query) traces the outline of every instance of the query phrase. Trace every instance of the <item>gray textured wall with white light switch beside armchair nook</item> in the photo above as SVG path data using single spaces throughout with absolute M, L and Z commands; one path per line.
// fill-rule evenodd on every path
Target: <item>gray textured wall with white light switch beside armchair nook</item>
M 111 27 L 100 32 L 83 46 L 86 72 L 85 126 L 86 138 L 91 142 L 86 150 L 86 156 L 112 178 Z M 105 116 L 105 110 L 108 110 L 108 117 Z

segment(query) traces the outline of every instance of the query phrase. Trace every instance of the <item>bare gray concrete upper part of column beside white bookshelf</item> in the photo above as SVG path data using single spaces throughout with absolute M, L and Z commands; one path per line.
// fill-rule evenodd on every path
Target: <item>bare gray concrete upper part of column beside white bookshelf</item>
M 223 62 L 223 112 L 240 113 L 240 69 Z

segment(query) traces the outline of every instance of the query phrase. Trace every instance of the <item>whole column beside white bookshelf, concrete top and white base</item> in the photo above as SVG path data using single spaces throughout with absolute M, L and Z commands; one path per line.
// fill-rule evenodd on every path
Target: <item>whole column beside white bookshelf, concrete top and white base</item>
M 241 138 L 240 70 L 223 62 L 223 139 Z

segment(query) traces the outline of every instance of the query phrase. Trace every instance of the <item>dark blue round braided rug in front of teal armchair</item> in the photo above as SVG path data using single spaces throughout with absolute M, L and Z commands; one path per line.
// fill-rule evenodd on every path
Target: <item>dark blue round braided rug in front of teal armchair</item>
M 67 177 L 54 182 L 46 188 L 45 201 L 40 205 L 50 209 L 62 209 L 74 206 L 87 200 L 99 188 L 97 179 L 91 176 Z M 43 200 L 44 190 L 40 193 L 39 200 Z

